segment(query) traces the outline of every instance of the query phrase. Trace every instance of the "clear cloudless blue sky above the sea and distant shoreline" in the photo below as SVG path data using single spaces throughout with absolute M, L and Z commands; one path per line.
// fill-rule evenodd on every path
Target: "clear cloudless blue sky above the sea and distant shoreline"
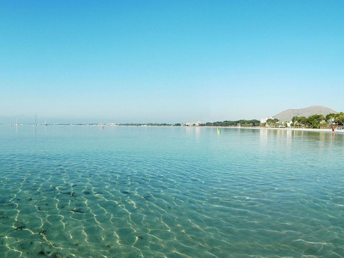
M 343 13 L 344 1 L 2 0 L 0 123 L 342 111 Z

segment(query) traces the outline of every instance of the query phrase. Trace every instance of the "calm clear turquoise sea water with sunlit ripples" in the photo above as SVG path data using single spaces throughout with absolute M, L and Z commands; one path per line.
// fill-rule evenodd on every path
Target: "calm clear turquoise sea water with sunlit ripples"
M 344 135 L 0 126 L 1 257 L 344 256 Z

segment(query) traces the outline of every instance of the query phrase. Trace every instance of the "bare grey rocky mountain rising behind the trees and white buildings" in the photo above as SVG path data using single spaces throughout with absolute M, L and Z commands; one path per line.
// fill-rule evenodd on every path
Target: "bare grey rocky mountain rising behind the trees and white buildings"
M 277 115 L 273 116 L 273 118 L 278 118 L 281 122 L 291 121 L 293 116 L 305 116 L 309 117 L 311 115 L 324 115 L 338 112 L 334 111 L 331 108 L 324 107 L 324 106 L 311 106 L 308 108 L 300 108 L 300 109 L 288 109 L 283 112 L 278 113 Z

